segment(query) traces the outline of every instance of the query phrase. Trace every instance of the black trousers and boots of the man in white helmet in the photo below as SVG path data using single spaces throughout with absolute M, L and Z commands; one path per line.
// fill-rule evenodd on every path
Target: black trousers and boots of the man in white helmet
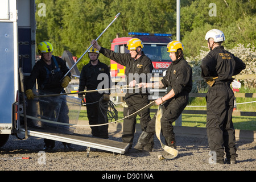
M 207 136 L 211 151 L 216 152 L 216 162 L 237 157 L 236 138 L 232 122 L 234 93 L 230 82 L 217 82 L 209 87 L 207 96 Z

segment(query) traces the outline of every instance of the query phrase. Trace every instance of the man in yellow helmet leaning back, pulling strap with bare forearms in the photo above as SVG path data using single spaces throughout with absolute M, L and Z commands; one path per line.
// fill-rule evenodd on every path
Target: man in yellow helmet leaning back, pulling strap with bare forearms
M 192 69 L 183 57 L 184 46 L 181 42 L 174 40 L 167 45 L 167 52 L 170 52 L 172 63 L 167 69 L 166 75 L 159 82 L 141 83 L 144 88 L 166 88 L 171 86 L 171 91 L 155 102 L 157 105 L 163 104 L 163 116 L 160 120 L 162 134 L 166 145 L 176 147 L 174 127 L 172 123 L 179 118 L 184 108 L 188 104 L 188 94 L 192 89 Z M 147 130 L 143 131 L 134 147 L 143 150 L 148 139 L 155 134 L 155 119 L 148 123 Z M 168 153 L 164 152 L 164 155 Z

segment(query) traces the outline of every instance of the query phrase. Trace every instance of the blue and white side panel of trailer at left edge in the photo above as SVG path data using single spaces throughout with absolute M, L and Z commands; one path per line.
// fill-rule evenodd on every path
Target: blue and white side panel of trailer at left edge
M 0 6 L 0 131 L 11 133 L 11 106 L 18 90 L 18 38 L 16 1 L 1 0 Z

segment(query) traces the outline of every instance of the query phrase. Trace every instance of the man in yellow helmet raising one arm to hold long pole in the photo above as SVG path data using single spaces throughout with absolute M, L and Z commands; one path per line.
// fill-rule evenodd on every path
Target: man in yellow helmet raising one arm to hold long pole
M 144 52 L 142 51 L 143 43 L 140 39 L 132 38 L 127 42 L 126 48 L 130 51 L 130 53 L 115 53 L 114 51 L 99 46 L 96 40 L 92 40 L 91 43 L 104 56 L 109 57 L 110 59 L 126 67 L 126 81 L 131 87 L 139 84 L 139 82 L 141 82 L 143 79 L 147 80 L 149 74 L 152 73 L 152 62 L 146 55 L 144 55 Z M 141 78 L 139 80 L 134 79 L 135 75 L 139 75 Z M 142 107 L 149 104 L 148 93 L 143 93 L 142 90 L 139 89 L 133 90 L 131 93 L 131 90 L 129 90 L 125 95 L 125 101 L 128 107 L 124 107 L 123 114 L 126 117 L 127 115 L 133 114 L 135 111 L 138 111 Z M 148 108 L 143 110 L 141 113 L 139 113 L 139 116 L 141 117 L 142 130 L 145 131 L 148 122 L 151 120 L 150 109 Z M 134 139 L 136 117 L 137 115 L 133 115 L 132 117 L 126 118 L 123 121 L 122 140 L 125 143 L 130 143 L 130 149 Z M 145 150 L 151 151 L 153 147 L 154 141 L 153 138 L 151 138 Z

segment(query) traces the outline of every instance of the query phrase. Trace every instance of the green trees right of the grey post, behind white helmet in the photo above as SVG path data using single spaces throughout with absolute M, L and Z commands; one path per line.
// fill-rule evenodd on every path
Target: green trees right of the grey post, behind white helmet
M 208 13 L 210 3 L 216 5 L 216 16 Z M 255 2 L 255 1 L 254 1 Z M 201 46 L 207 45 L 207 31 L 217 28 L 224 32 L 224 46 L 233 48 L 238 43 L 255 45 L 255 3 L 253 1 L 200 0 L 181 7 L 181 42 L 187 56 L 197 56 Z

